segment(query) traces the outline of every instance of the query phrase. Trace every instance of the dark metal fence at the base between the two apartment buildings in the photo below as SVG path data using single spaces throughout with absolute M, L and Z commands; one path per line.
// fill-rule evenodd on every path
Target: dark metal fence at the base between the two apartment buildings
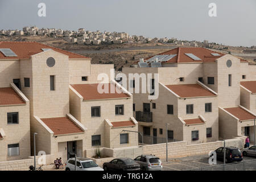
M 138 136 L 139 136 L 139 143 L 142 143 L 142 135 L 139 134 Z M 179 140 L 168 139 L 168 143 L 170 142 L 179 142 Z M 143 135 L 143 144 L 158 144 L 158 143 L 166 143 L 166 138 Z

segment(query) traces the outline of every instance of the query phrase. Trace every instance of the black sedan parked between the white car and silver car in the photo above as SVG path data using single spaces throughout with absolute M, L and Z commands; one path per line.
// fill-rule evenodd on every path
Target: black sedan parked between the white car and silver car
M 104 171 L 139 171 L 141 167 L 133 159 L 118 158 L 103 164 Z

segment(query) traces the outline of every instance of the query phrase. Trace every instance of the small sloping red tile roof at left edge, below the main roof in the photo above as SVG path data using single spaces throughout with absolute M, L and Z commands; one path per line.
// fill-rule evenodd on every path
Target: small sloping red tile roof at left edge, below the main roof
M 11 87 L 0 88 L 0 105 L 26 104 L 25 101 Z

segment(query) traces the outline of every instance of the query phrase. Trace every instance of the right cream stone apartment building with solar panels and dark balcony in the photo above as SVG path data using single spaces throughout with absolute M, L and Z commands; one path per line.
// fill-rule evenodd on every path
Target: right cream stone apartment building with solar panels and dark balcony
M 168 135 L 170 141 L 196 144 L 243 135 L 254 140 L 255 68 L 232 55 L 179 47 L 141 60 L 137 68 L 123 68 L 122 72 L 127 78 L 129 73 L 141 76 L 140 80 L 127 79 L 126 84 L 133 90 L 133 113 L 139 131 L 150 139 L 144 141 L 159 143 Z M 152 73 L 152 78 L 143 80 L 142 73 Z M 134 93 L 135 82 L 139 83 L 139 93 Z M 153 92 L 142 93 L 142 82 L 150 83 Z M 150 95 L 158 97 L 148 99 Z

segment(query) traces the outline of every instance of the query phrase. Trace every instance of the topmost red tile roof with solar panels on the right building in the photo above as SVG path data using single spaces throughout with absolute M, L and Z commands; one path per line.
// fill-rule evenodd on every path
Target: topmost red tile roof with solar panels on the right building
M 191 57 L 185 55 L 185 53 L 192 53 L 193 55 L 199 57 L 201 60 L 193 60 Z M 213 56 L 211 53 L 218 53 L 220 56 Z M 164 63 L 201 63 L 206 61 L 215 61 L 219 57 L 224 56 L 225 54 L 211 51 L 209 49 L 205 49 L 202 47 L 177 47 L 174 49 L 171 49 L 166 52 L 159 53 L 158 55 L 176 55 L 172 59 L 162 62 Z M 153 57 L 153 56 L 151 56 Z M 150 59 L 151 57 L 148 57 L 147 59 Z M 145 60 L 147 60 L 145 59 Z M 242 62 L 247 62 L 246 60 L 240 59 Z

